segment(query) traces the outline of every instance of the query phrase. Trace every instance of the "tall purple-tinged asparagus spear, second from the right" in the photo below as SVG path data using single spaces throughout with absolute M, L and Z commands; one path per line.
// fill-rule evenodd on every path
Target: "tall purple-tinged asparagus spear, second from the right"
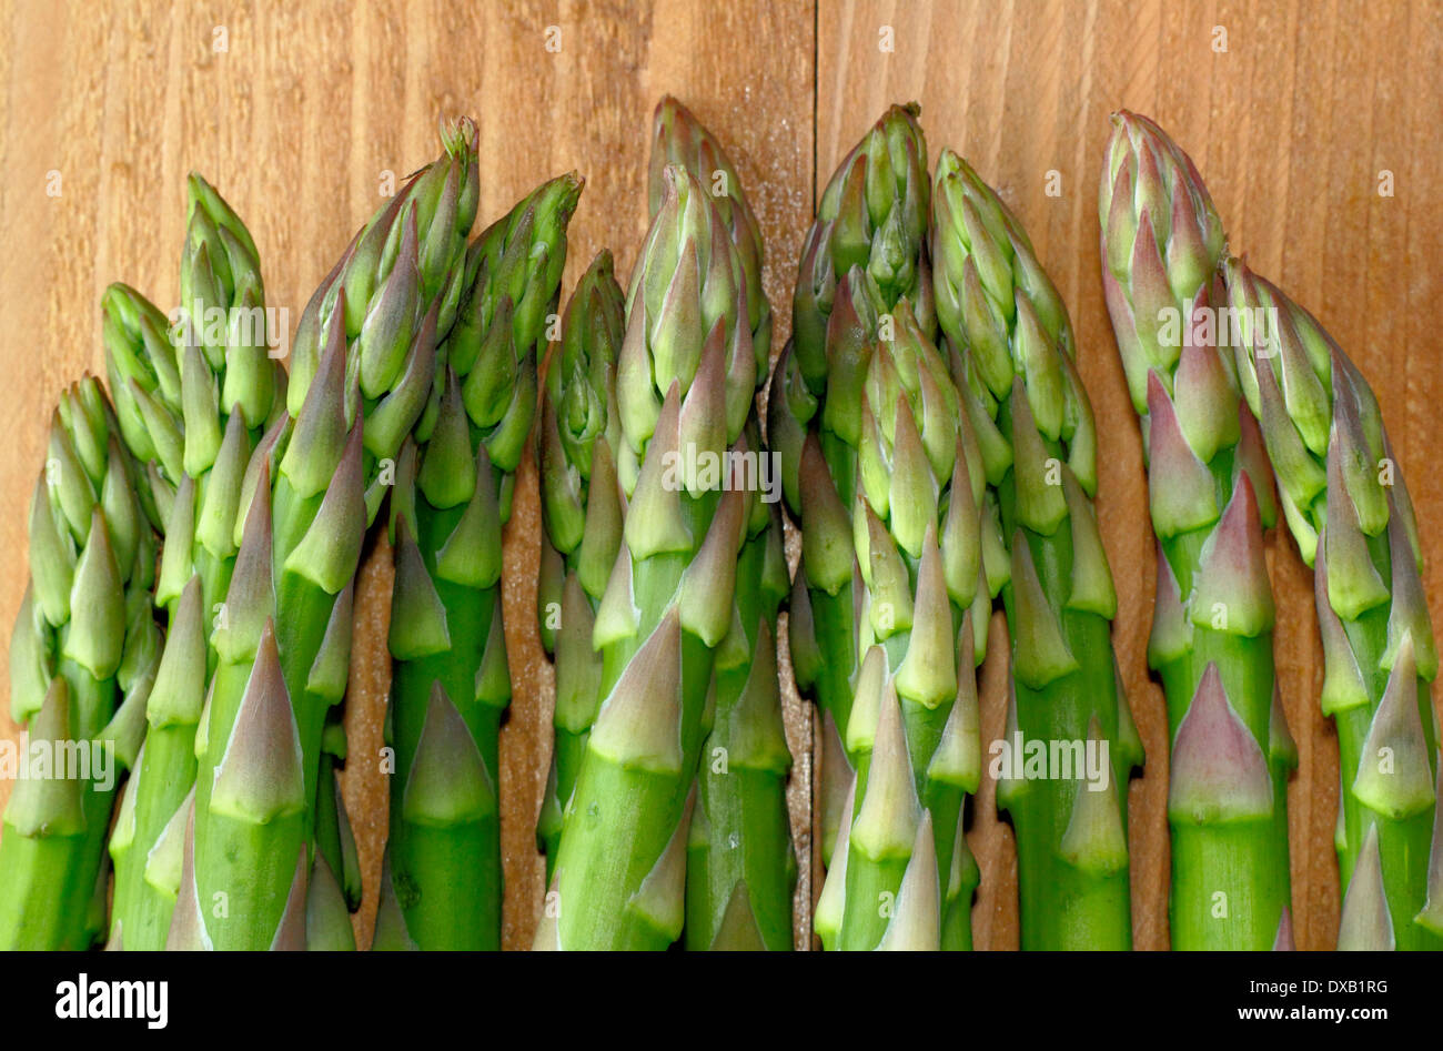
M 1287 771 L 1263 530 L 1277 510 L 1231 352 L 1222 222 L 1156 124 L 1114 117 L 1102 170 L 1102 284 L 1149 455 L 1157 599 L 1149 664 L 1172 729 L 1173 948 L 1270 948 L 1287 924 Z

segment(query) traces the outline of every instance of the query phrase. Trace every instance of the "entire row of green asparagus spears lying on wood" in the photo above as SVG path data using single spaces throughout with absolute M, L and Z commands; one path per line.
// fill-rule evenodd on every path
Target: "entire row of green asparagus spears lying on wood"
M 1173 946 L 1291 946 L 1276 474 L 1315 566 L 1341 741 L 1339 947 L 1443 947 L 1437 648 L 1377 397 L 1310 313 L 1225 258 L 1190 159 L 1146 118 L 1114 124 L 1102 277 L 1157 534 Z M 1128 947 L 1143 754 L 1113 657 L 1095 424 L 1066 309 L 999 195 L 949 150 L 929 176 L 915 105 L 828 183 L 766 419 L 802 537 L 788 588 L 760 492 L 763 245 L 716 137 L 658 105 L 629 290 L 597 254 L 544 384 L 582 182 L 543 183 L 468 247 L 475 128 L 442 139 L 312 296 L 289 375 L 254 240 L 199 176 L 175 323 L 107 290 L 110 394 L 92 377 L 63 393 L 29 510 L 12 712 L 27 761 L 66 767 L 22 780 L 4 813 L 0 947 L 105 931 L 115 948 L 355 947 L 339 703 L 392 489 L 374 944 L 499 947 L 501 534 L 538 393 L 557 706 L 537 947 L 791 947 L 788 592 L 821 710 L 823 944 L 971 946 L 975 668 L 1000 598 L 1004 751 L 1072 758 L 999 775 L 1023 947 Z

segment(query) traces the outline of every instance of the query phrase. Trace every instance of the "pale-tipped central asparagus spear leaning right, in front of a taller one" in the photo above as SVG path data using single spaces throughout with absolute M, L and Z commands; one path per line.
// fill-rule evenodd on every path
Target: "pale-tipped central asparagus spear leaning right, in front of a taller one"
M 593 634 L 605 700 L 538 947 L 665 948 L 684 921 L 693 784 L 752 500 L 724 453 L 745 452 L 758 367 L 722 215 L 684 169 L 667 166 L 662 182 L 618 362 L 622 430 L 641 469 Z

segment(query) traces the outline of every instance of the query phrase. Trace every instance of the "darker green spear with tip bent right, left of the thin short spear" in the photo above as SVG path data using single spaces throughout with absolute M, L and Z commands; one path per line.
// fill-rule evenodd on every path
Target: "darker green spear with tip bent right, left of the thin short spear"
M 392 502 L 391 878 L 421 948 L 501 947 L 501 527 L 580 192 L 551 179 L 472 244 L 440 404 Z

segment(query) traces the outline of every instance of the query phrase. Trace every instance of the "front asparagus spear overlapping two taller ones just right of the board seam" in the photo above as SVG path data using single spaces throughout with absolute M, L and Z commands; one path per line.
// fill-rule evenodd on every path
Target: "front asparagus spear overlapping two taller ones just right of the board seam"
M 859 270 L 848 280 L 872 284 Z M 964 803 L 981 772 L 975 667 L 991 603 L 981 452 L 906 299 L 860 345 L 864 381 L 828 390 L 828 410 L 844 394 L 860 401 L 854 550 L 838 515 L 840 536 L 811 549 L 828 557 L 810 566 L 838 579 L 847 563 L 861 567 L 863 654 L 838 720 L 854 787 L 815 928 L 827 948 L 970 948 L 977 866 Z M 805 491 L 823 471 L 814 439 L 804 456 Z

